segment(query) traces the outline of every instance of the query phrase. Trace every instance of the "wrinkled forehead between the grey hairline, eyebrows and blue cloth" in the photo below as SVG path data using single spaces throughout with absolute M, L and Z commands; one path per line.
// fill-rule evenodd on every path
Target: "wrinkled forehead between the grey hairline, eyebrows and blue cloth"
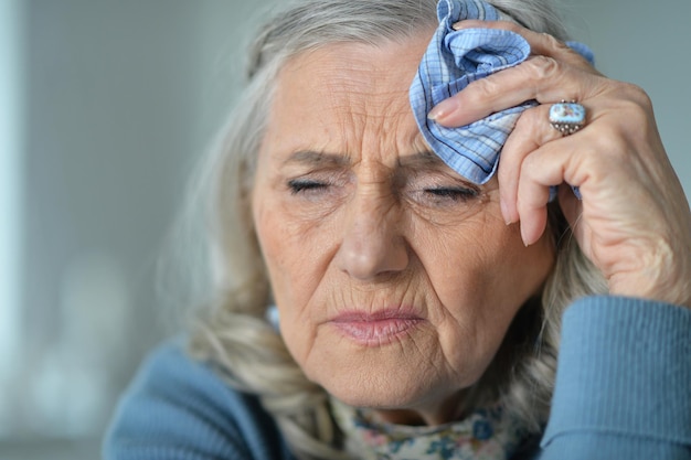
M 300 148 L 419 143 L 408 89 L 427 42 L 333 43 L 293 57 L 278 74 L 267 137 Z

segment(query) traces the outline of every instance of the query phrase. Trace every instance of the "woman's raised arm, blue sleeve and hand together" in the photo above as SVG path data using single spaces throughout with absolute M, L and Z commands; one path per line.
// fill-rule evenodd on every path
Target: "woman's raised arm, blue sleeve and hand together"
M 691 459 L 691 212 L 648 96 L 612 81 L 553 38 L 511 23 L 532 57 L 476 81 L 430 116 L 463 126 L 524 100 L 501 153 L 502 214 L 525 244 L 546 225 L 550 186 L 610 297 L 565 314 L 542 459 Z M 575 99 L 586 124 L 562 136 L 552 104 Z M 567 186 L 578 186 L 578 200 Z M 646 300 L 647 299 L 647 300 Z M 679 306 L 679 307 L 676 307 Z

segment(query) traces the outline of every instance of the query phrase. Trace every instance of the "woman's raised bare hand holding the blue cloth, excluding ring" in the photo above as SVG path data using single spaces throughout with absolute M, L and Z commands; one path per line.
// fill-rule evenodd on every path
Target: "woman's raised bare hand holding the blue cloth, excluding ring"
M 521 34 L 533 56 L 471 83 L 435 107 L 430 118 L 464 126 L 535 99 L 501 153 L 498 179 L 507 223 L 520 222 L 523 242 L 546 226 L 550 186 L 585 255 L 613 295 L 691 308 L 691 213 L 667 158 L 648 96 L 595 71 L 554 38 L 509 22 L 464 21 L 459 28 L 498 28 Z M 575 100 L 586 124 L 562 136 L 549 122 L 552 104 Z M 578 186 L 582 200 L 564 183 Z

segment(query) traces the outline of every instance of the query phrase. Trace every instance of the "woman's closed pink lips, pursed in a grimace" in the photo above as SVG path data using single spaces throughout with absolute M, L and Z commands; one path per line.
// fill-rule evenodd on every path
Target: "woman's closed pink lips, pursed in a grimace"
M 423 318 L 415 313 L 392 309 L 375 313 L 346 312 L 330 322 L 355 343 L 381 346 L 400 339 L 422 321 Z

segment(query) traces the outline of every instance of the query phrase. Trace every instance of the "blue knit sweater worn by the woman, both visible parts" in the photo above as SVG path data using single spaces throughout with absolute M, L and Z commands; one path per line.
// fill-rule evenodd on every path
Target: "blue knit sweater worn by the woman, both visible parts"
M 691 459 L 691 310 L 591 297 L 564 314 L 540 460 Z M 294 459 L 252 395 L 171 342 L 142 365 L 104 443 L 105 460 Z

